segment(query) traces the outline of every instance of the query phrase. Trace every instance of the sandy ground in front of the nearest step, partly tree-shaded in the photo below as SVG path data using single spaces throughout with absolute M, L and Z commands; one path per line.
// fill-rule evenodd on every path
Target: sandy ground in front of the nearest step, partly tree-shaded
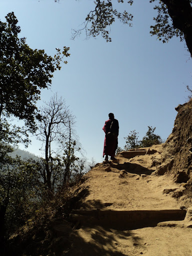
M 133 230 L 84 227 L 73 232 L 67 255 L 77 256 L 190 256 L 192 230 L 145 227 Z

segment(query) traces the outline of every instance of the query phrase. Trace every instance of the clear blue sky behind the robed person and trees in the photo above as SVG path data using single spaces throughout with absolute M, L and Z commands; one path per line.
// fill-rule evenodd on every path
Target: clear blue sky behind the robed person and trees
M 122 6 L 117 4 L 119 9 Z M 111 26 L 112 42 L 100 36 L 84 40 L 84 34 L 71 40 L 71 29 L 78 28 L 93 7 L 93 0 L 1 0 L 0 20 L 14 11 L 20 36 L 33 49 L 54 55 L 56 47 L 70 47 L 68 63 L 55 72 L 41 102 L 55 92 L 65 98 L 76 116 L 75 130 L 85 156 L 101 162 L 102 126 L 109 112 L 119 121 L 121 147 L 131 130 L 142 138 L 148 125 L 156 127 L 162 139 L 168 137 L 177 113 L 174 107 L 186 101 L 186 85 L 192 83 L 191 59 L 179 38 L 163 44 L 150 36 L 155 11 L 149 0 L 127 5 L 134 14 L 133 26 L 116 20 Z M 27 150 L 39 155 L 39 147 L 33 139 Z

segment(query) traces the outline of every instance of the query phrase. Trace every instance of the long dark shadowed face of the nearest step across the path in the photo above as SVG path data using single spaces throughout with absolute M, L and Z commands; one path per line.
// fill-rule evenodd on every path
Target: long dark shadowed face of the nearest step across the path
M 111 209 L 76 209 L 70 214 L 70 220 L 76 225 L 92 224 L 109 228 L 139 228 L 156 226 L 157 223 L 169 220 L 183 220 L 184 209 L 159 210 L 111 210 Z

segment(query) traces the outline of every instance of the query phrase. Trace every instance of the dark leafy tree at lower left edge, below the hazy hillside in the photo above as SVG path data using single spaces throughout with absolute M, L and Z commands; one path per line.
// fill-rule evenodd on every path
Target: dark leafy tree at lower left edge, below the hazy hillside
M 4 237 L 28 219 L 34 211 L 39 191 L 39 175 L 35 164 L 6 155 L 6 164 L 0 162 L 0 255 L 3 255 Z

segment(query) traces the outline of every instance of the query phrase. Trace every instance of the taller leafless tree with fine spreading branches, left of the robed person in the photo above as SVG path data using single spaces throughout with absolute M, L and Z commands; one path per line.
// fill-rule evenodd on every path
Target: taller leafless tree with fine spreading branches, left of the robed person
M 42 178 L 47 188 L 52 191 L 58 169 L 62 168 L 53 144 L 64 143 L 68 138 L 68 130 L 74 124 L 74 116 L 71 114 L 65 100 L 54 94 L 48 102 L 40 107 L 41 120 L 38 122 L 37 138 L 44 146 L 44 170 Z

